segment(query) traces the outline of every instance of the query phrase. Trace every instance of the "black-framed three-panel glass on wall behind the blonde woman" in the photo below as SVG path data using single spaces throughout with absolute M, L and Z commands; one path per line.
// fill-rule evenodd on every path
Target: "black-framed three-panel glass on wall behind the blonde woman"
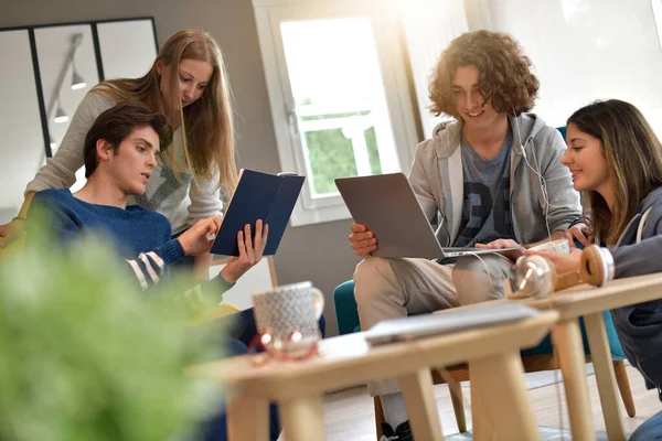
M 145 75 L 157 41 L 150 17 L 0 29 L 0 56 L 12 66 L 0 82 L 0 173 L 9 182 L 0 224 L 15 216 L 25 185 L 60 149 L 85 94 L 104 79 Z M 84 183 L 81 168 L 72 191 Z

